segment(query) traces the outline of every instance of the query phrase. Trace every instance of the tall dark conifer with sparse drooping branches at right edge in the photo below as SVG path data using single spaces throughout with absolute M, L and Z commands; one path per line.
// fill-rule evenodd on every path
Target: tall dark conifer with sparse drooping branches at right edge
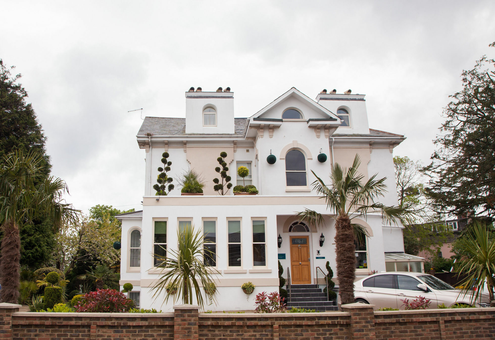
M 494 59 L 483 56 L 463 71 L 463 89 L 444 110 L 442 134 L 434 141 L 439 149 L 425 168 L 432 176 L 426 193 L 436 211 L 495 215 L 494 66 Z

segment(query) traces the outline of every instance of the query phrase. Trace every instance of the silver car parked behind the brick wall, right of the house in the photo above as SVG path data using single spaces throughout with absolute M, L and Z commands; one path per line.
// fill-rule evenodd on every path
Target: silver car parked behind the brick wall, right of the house
M 471 294 L 459 294 L 455 289 L 439 278 L 413 272 L 386 272 L 370 275 L 354 283 L 354 297 L 356 302 L 374 304 L 375 309 L 391 307 L 404 309 L 401 300 L 409 302 L 418 296 L 431 299 L 429 308 L 437 308 L 439 304 L 451 307 L 455 304 L 469 304 L 476 307 L 490 305 L 490 297 L 482 293 L 476 302 L 471 301 Z M 480 305 L 480 303 L 482 303 Z

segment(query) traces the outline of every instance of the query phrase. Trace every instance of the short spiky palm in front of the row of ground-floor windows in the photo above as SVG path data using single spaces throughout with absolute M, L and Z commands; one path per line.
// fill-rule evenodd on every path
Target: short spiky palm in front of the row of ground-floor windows
M 219 274 L 219 272 L 211 267 L 204 265 L 204 257 L 213 258 L 212 253 L 206 246 L 203 239 L 204 235 L 201 230 L 194 230 L 194 227 L 187 225 L 184 230 L 177 230 L 178 247 L 177 250 L 168 249 L 168 255 L 163 258 L 159 255 L 154 255 L 155 258 L 161 261 L 159 268 L 168 270 L 162 274 L 153 288 L 153 297 L 156 299 L 163 290 L 166 290 L 168 284 L 177 287 L 177 292 L 174 294 L 174 303 L 182 296 L 183 303 L 193 304 L 193 289 L 195 291 L 198 305 L 203 308 L 204 300 L 201 295 L 202 287 L 212 287 L 214 279 L 210 272 Z M 201 285 L 200 285 L 201 283 Z M 214 294 L 210 294 L 210 298 L 214 299 Z M 168 302 L 170 293 L 166 292 L 165 301 Z

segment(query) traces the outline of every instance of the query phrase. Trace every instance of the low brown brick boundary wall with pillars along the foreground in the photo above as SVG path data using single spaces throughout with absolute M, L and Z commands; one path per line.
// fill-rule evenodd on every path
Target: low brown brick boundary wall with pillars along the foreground
M 495 339 L 495 308 L 373 311 L 342 305 L 344 312 L 25 313 L 0 303 L 0 340 L 457 340 Z

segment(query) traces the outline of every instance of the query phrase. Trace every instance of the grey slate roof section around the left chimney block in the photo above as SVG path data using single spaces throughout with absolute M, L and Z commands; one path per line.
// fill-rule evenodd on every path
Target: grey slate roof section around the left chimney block
M 234 134 L 186 134 L 186 118 L 171 117 L 145 117 L 138 136 L 147 133 L 165 136 L 195 136 L 195 135 L 218 135 L 218 136 L 244 136 L 247 118 L 234 118 Z

